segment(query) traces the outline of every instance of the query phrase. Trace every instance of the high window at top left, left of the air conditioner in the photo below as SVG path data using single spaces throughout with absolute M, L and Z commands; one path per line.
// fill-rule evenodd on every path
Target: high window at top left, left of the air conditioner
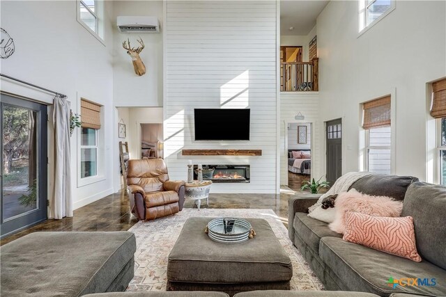
M 78 0 L 77 22 L 100 40 L 104 39 L 104 1 Z

